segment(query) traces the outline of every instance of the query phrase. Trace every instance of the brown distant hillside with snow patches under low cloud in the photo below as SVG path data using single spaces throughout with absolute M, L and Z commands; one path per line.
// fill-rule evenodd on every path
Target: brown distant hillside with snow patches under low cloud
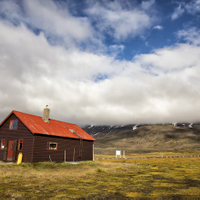
M 200 125 L 189 123 L 177 125 L 141 125 L 137 128 L 135 125 L 88 126 L 85 130 L 97 139 L 95 148 L 132 150 L 200 148 Z

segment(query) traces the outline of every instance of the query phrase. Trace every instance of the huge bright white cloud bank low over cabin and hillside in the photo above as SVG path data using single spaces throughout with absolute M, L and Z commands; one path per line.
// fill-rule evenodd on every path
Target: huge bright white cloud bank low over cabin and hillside
M 13 109 L 78 124 L 195 121 L 200 48 L 177 44 L 133 61 L 51 46 L 44 34 L 0 22 L 1 120 Z M 108 78 L 95 81 L 99 75 Z

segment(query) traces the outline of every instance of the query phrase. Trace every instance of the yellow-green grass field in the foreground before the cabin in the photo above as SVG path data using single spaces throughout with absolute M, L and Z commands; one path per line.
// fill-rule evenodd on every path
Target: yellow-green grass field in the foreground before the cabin
M 200 158 L 0 165 L 0 199 L 200 199 Z

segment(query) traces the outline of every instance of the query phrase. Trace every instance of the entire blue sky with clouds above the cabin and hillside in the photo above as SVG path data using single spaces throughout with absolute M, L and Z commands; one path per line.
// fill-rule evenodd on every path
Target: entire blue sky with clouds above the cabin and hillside
M 0 0 L 0 121 L 200 121 L 200 0 Z

